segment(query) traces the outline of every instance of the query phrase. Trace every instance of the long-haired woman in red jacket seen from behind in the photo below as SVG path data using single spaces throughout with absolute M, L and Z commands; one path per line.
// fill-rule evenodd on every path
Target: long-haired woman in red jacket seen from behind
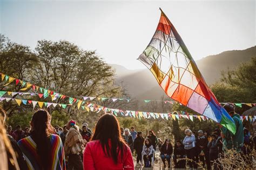
M 134 169 L 131 149 L 121 137 L 119 122 L 112 114 L 99 118 L 85 147 L 84 170 L 87 169 Z

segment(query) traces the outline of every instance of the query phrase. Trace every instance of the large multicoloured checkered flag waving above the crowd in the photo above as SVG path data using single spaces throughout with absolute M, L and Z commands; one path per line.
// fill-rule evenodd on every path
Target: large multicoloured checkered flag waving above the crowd
M 233 119 L 207 86 L 190 52 L 165 13 L 151 42 L 139 56 L 167 96 L 235 133 Z

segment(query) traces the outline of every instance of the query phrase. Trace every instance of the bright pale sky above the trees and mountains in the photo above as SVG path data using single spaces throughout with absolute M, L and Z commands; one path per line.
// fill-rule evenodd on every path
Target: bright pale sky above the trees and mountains
M 255 1 L 4 1 L 0 33 L 35 49 L 68 40 L 109 64 L 145 69 L 137 60 L 156 31 L 160 10 L 194 60 L 255 45 Z

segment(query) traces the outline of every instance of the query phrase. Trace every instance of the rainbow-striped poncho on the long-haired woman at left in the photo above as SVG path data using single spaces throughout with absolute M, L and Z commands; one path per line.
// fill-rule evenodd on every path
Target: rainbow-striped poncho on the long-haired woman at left
M 65 157 L 62 141 L 58 135 L 50 134 L 51 141 L 51 168 L 65 170 Z M 18 141 L 18 146 L 21 148 L 23 155 L 28 164 L 29 169 L 42 169 L 39 155 L 36 152 L 36 143 L 29 136 Z

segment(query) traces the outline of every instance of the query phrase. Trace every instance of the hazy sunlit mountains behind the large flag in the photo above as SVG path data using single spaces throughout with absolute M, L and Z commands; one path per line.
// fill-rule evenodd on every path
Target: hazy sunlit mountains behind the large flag
M 234 69 L 240 63 L 248 62 L 256 57 L 256 46 L 246 50 L 225 51 L 218 55 L 207 56 L 196 63 L 203 74 L 206 83 L 211 85 L 219 80 L 221 71 Z M 164 91 L 148 69 L 129 70 L 123 66 L 111 64 L 116 70 L 116 82 L 125 86 L 131 97 L 138 99 L 159 100 Z

